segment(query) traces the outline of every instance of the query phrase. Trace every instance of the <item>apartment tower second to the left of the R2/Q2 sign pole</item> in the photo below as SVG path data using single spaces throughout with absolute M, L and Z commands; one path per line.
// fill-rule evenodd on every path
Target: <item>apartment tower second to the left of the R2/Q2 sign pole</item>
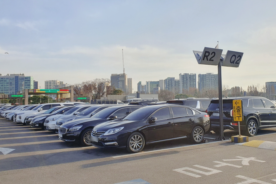
M 179 74 L 179 89 L 180 93 L 189 88 L 197 88 L 197 75 L 195 73 Z

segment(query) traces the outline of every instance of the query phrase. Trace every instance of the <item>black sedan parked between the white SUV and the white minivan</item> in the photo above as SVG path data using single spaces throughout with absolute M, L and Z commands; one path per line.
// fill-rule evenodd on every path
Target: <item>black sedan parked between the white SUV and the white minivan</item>
M 62 114 L 66 111 L 68 111 L 69 109 L 72 109 L 74 106 L 57 106 L 57 107 L 53 107 L 47 111 L 45 111 L 44 113 L 38 114 L 38 115 L 34 115 L 34 116 L 30 116 L 27 117 L 26 119 L 26 124 L 29 123 L 29 121 L 31 121 L 31 127 L 35 127 L 35 128 L 42 128 L 44 129 L 44 121 L 47 117 L 52 116 L 52 115 L 57 115 L 57 114 Z

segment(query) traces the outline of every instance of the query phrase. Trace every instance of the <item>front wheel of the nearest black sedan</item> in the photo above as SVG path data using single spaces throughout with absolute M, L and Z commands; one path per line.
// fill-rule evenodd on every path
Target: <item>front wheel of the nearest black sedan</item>
M 142 151 L 145 146 L 145 138 L 139 132 L 133 132 L 127 139 L 126 149 L 130 153 L 138 153 Z

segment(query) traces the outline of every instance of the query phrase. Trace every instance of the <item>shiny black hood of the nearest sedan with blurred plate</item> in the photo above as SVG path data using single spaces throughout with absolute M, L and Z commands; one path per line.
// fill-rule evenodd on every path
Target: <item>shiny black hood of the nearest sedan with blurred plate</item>
M 122 120 L 122 119 L 117 119 L 113 121 L 106 121 L 104 123 L 101 123 L 97 126 L 95 126 L 95 129 L 112 129 L 112 128 L 118 128 L 118 127 L 123 127 L 127 125 L 133 125 L 136 123 L 139 123 L 140 121 L 131 121 L 131 120 Z

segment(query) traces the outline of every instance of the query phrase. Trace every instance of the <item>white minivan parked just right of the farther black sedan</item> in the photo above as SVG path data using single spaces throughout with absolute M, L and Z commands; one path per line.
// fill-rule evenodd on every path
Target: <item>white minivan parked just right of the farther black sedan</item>
M 81 104 L 81 105 L 77 105 L 76 107 L 73 107 L 72 109 L 66 111 L 63 114 L 57 114 L 57 115 L 53 115 L 51 117 L 47 117 L 44 121 L 44 129 L 49 130 L 49 131 L 55 131 L 55 124 L 57 123 L 57 120 L 59 120 L 62 117 L 65 117 L 65 116 L 77 115 L 81 111 L 83 111 L 91 106 L 93 106 L 93 105 Z

